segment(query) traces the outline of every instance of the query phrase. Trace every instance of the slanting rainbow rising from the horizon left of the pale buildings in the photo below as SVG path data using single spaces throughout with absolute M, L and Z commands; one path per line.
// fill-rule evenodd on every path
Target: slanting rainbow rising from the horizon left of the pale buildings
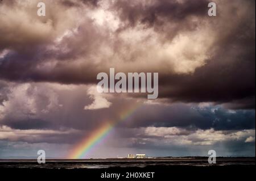
M 137 103 L 133 108 L 129 108 L 125 112 L 119 114 L 118 119 L 114 121 L 107 121 L 102 124 L 98 129 L 92 132 L 89 136 L 87 135 L 79 144 L 75 146 L 75 149 L 72 149 L 71 153 L 68 155 L 69 159 L 82 159 L 85 158 L 86 155 L 94 148 L 94 146 L 98 145 L 102 142 L 109 133 L 113 130 L 115 125 L 120 123 L 121 121 L 125 121 L 129 118 L 129 116 L 133 115 L 133 113 L 141 106 L 141 104 Z

